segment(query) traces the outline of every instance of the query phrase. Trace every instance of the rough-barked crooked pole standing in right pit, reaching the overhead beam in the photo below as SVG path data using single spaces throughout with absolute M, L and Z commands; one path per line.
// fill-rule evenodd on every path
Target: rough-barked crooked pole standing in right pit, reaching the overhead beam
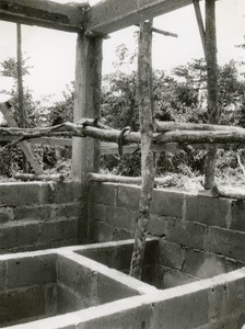
M 136 219 L 135 246 L 131 258 L 130 275 L 141 277 L 150 204 L 154 186 L 153 129 L 154 114 L 152 104 L 152 22 L 140 24 L 138 55 L 138 103 L 141 133 L 141 174 L 142 188 L 139 211 Z

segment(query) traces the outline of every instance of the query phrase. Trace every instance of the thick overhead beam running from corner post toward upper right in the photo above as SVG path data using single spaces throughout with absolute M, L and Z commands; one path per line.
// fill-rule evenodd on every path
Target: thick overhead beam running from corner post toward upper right
M 192 3 L 192 0 L 106 0 L 93 5 L 86 29 L 108 34 Z

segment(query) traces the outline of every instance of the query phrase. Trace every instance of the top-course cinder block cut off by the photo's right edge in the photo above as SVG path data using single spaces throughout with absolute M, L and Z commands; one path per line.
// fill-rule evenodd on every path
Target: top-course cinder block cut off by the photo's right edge
M 245 202 L 232 201 L 231 204 L 231 229 L 245 231 Z

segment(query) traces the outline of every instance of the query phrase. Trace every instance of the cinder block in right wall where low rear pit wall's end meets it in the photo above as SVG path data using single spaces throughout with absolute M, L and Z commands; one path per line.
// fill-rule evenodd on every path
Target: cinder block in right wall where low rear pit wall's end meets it
M 159 241 L 156 259 L 160 265 L 182 270 L 185 261 L 185 249 L 179 245 L 161 239 Z

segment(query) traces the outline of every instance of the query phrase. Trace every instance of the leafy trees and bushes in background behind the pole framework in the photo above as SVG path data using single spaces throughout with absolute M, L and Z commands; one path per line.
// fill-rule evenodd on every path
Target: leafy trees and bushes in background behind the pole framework
M 245 49 L 245 44 L 240 45 Z M 130 53 L 126 45 L 117 48 L 115 71 L 104 76 L 102 88 L 101 120 L 115 128 L 130 126 L 139 131 L 137 102 L 136 53 Z M 238 73 L 245 63 L 230 63 L 219 67 L 219 107 L 220 124 L 245 127 L 245 81 L 244 75 Z M 14 116 L 18 118 L 16 98 L 16 64 L 14 58 L 1 63 L 1 75 L 14 79 L 12 98 Z M 23 60 L 23 75 L 30 73 L 27 59 Z M 173 69 L 172 75 L 164 70 L 153 72 L 153 104 L 155 116 L 161 121 L 207 123 L 207 84 L 206 63 L 203 59 L 192 59 L 186 65 Z M 73 82 L 63 91 L 63 100 L 49 107 L 33 101 L 32 92 L 24 90 L 24 102 L 27 112 L 28 126 L 56 125 L 72 121 Z M 43 147 L 40 160 L 45 166 L 54 167 L 60 159 L 69 159 L 71 154 L 61 148 L 57 154 L 51 147 Z M 237 167 L 236 147 L 226 147 L 219 151 L 218 169 Z M 16 152 L 16 150 L 13 150 Z M 205 150 L 191 149 L 177 154 L 162 152 L 156 155 L 156 174 L 177 172 L 184 174 L 200 174 L 203 172 Z M 2 169 L 0 168 L 2 171 Z M 116 174 L 139 175 L 140 154 L 103 156 L 102 170 Z M 2 171 L 3 173 L 3 171 Z

